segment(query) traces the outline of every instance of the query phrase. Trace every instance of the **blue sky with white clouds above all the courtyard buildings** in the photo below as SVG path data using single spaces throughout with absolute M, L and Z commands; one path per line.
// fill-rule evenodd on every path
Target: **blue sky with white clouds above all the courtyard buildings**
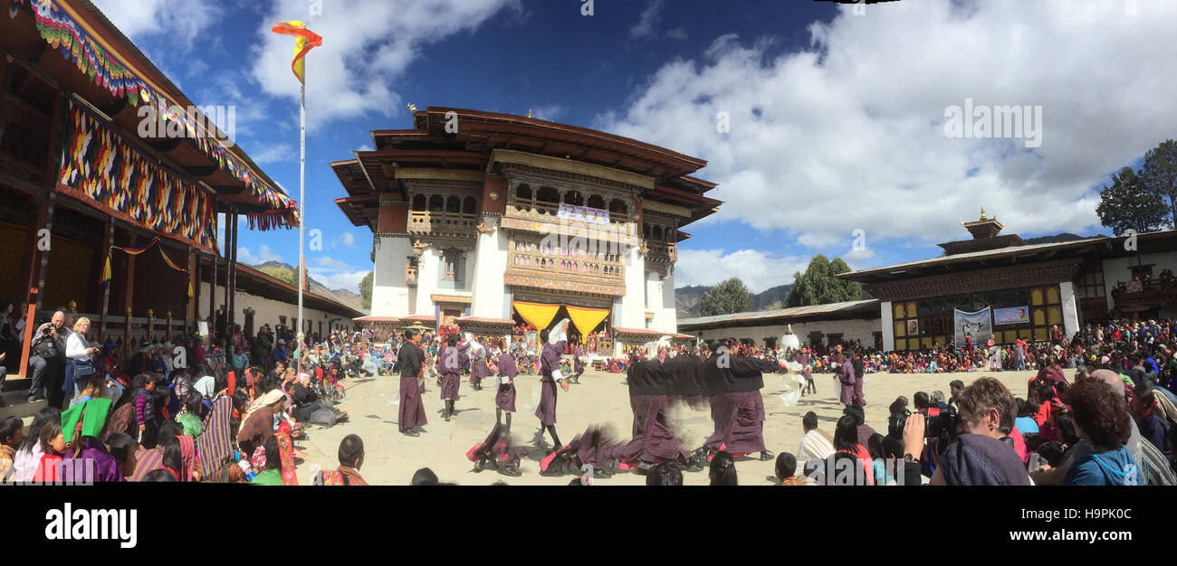
M 984 205 L 1006 233 L 1106 233 L 1097 189 L 1175 137 L 1173 2 L 99 0 L 198 105 L 237 107 L 237 141 L 298 198 L 301 19 L 312 275 L 357 290 L 372 236 L 328 167 L 407 128 L 406 102 L 604 129 L 705 159 L 720 213 L 685 230 L 676 284 L 791 283 L 817 252 L 852 267 L 940 252 Z M 1145 66 L 1142 61 L 1149 61 Z M 1162 96 L 1162 93 L 1168 93 Z M 945 135 L 946 108 L 1040 107 L 1042 143 Z M 716 128 L 719 113 L 730 132 Z M 1029 115 L 1030 113 L 1028 113 Z M 1029 123 L 1029 122 L 1028 122 Z M 865 249 L 852 250 L 853 231 Z M 295 263 L 298 235 L 240 233 L 247 262 Z

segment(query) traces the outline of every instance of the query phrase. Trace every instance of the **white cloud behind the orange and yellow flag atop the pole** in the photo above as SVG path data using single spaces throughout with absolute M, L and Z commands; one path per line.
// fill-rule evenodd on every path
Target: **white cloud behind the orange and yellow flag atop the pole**
M 505 8 L 521 12 L 519 0 L 332 0 L 322 15 L 310 15 L 306 0 L 277 0 L 262 18 L 251 48 L 253 79 L 261 90 L 298 101 L 291 73 L 294 39 L 270 31 L 274 21 L 301 19 L 322 36 L 306 58 L 307 127 L 334 119 L 404 112 L 393 80 L 420 49 L 460 32 L 477 29 Z

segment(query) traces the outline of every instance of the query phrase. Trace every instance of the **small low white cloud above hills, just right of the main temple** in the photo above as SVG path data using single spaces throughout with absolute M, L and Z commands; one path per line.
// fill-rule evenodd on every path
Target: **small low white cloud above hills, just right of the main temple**
M 805 271 L 809 257 L 773 256 L 760 250 L 739 250 L 724 255 L 723 250 L 678 250 L 674 264 L 674 287 L 714 285 L 734 274 L 749 291 L 760 292 L 777 285 L 793 283 L 793 274 Z

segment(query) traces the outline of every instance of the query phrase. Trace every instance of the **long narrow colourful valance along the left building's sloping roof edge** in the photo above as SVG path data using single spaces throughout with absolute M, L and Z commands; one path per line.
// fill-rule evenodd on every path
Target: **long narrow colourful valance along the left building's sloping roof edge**
M 9 15 L 14 16 L 21 5 L 28 5 L 36 20 L 36 29 L 49 46 L 59 49 L 61 56 L 77 65 L 95 85 L 106 88 L 113 96 L 126 96 L 127 102 L 138 106 L 151 105 L 158 116 L 181 124 L 198 148 L 221 170 L 248 187 L 250 193 L 266 207 L 280 210 L 278 225 L 299 225 L 298 203 L 281 190 L 271 187 L 250 168 L 245 161 L 233 155 L 217 141 L 215 133 L 208 130 L 207 122 L 188 114 L 174 101 L 166 97 L 134 65 L 124 60 L 98 31 L 82 21 L 74 8 L 61 0 L 9 0 Z M 278 227 L 275 225 L 275 227 Z

